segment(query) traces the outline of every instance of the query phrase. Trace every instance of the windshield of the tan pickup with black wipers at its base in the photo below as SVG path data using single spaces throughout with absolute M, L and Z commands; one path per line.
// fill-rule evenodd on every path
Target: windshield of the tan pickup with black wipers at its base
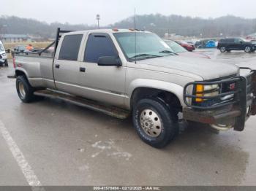
M 129 60 L 174 55 L 173 50 L 156 34 L 136 32 L 136 42 L 135 33 L 116 33 L 113 35 Z

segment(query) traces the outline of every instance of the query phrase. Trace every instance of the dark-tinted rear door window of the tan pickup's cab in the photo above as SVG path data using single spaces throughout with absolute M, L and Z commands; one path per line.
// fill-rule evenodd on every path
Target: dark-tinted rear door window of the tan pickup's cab
M 59 52 L 59 60 L 78 61 L 78 52 L 83 34 L 73 34 L 64 37 Z

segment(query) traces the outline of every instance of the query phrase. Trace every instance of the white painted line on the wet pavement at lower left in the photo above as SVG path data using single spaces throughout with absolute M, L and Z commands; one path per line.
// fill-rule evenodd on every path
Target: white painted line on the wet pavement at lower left
M 12 136 L 10 136 L 10 133 L 8 132 L 7 128 L 5 128 L 4 123 L 1 121 L 0 121 L 0 130 L 1 130 L 2 136 L 4 137 L 5 141 L 9 146 L 10 151 L 12 152 L 13 157 L 15 157 L 15 160 L 20 166 L 20 169 L 23 172 L 26 178 L 26 181 L 29 183 L 29 186 L 31 186 L 31 189 L 33 191 L 34 190 L 45 191 L 45 189 L 42 187 L 42 184 L 39 182 L 39 179 L 37 179 L 37 176 L 34 174 L 34 171 L 32 170 L 31 166 L 26 161 L 23 153 L 18 148 L 18 145 L 12 139 Z

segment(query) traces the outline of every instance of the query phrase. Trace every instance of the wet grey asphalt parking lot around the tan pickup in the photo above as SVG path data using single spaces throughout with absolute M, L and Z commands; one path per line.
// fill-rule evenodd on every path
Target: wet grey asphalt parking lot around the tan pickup
M 200 52 L 256 65 L 256 53 Z M 0 185 L 29 185 L 28 176 L 43 186 L 256 185 L 256 117 L 241 133 L 181 123 L 173 143 L 154 149 L 140 141 L 130 119 L 49 98 L 21 103 L 15 79 L 7 78 L 12 73 L 12 63 L 0 68 Z

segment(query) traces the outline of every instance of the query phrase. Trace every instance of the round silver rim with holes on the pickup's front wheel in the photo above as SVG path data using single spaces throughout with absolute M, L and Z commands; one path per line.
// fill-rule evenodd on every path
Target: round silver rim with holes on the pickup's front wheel
M 151 137 L 157 137 L 162 132 L 162 120 L 156 112 L 144 109 L 140 114 L 140 127 Z

